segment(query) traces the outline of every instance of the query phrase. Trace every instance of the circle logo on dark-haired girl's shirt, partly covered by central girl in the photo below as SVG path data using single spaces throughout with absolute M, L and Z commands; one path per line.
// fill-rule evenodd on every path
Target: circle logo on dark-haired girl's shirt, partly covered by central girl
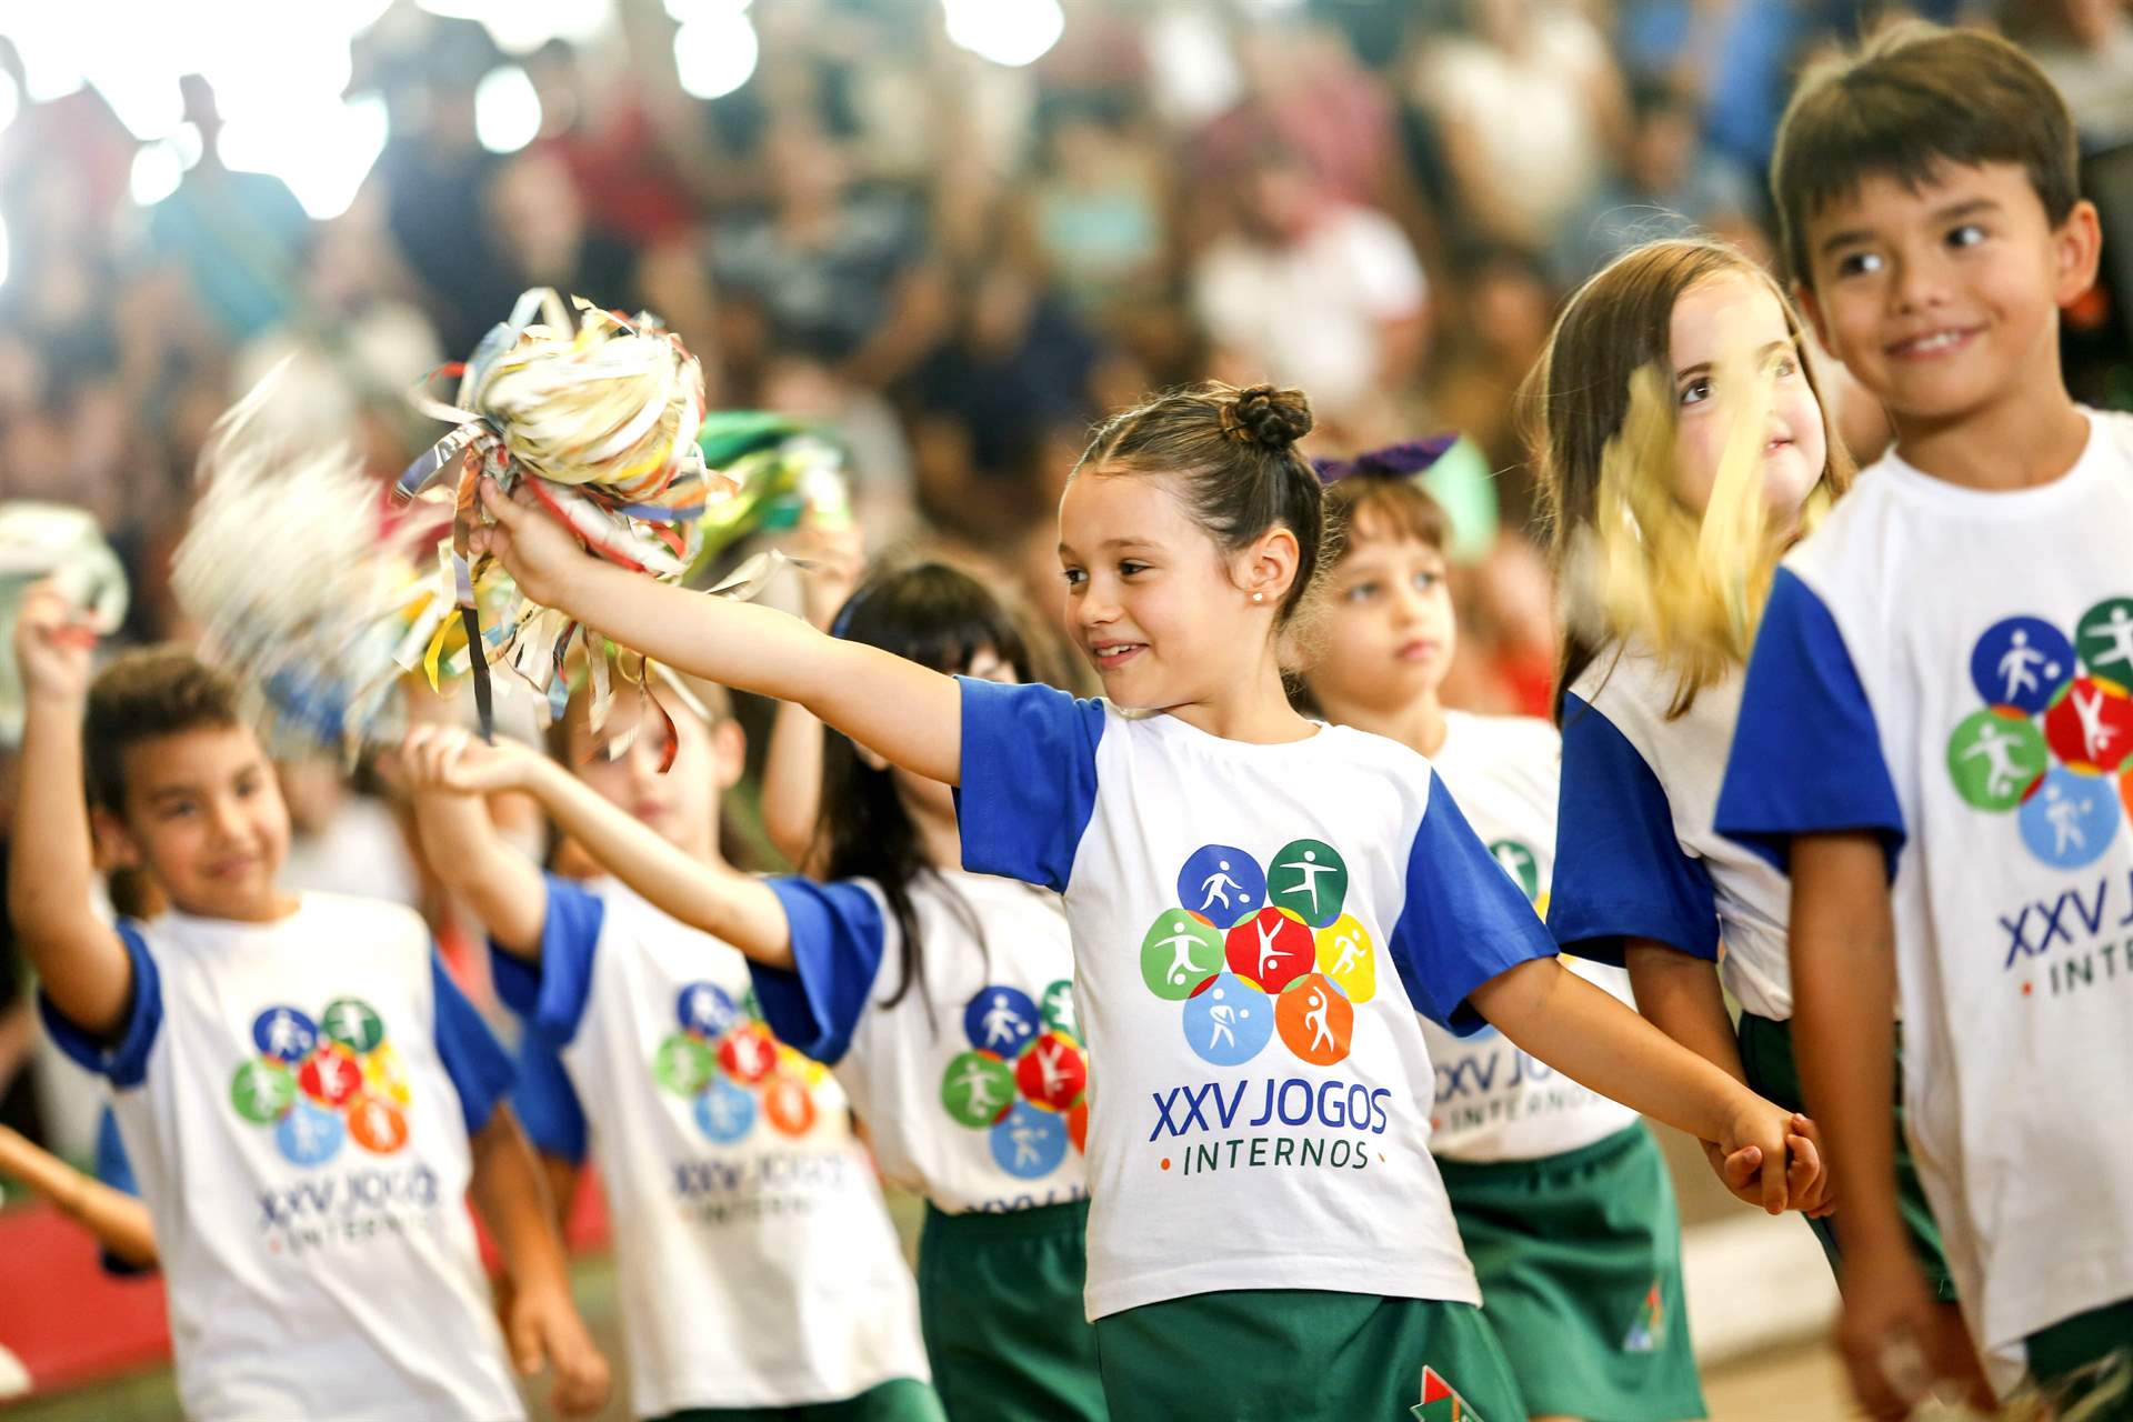
M 941 1072 L 949 1119 L 988 1132 L 992 1160 L 1017 1179 L 1052 1175 L 1066 1147 L 1088 1143 L 1088 1053 L 1081 1051 L 1073 983 L 1039 1000 L 988 985 L 962 1008 L 971 1049 Z

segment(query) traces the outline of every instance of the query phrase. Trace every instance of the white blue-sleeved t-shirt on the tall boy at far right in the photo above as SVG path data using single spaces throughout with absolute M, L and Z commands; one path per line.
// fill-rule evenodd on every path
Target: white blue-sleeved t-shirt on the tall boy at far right
M 1785 559 L 1717 823 L 1890 853 L 1905 1106 L 1996 1362 L 2133 1298 L 2133 416 L 2018 492 L 1869 469 Z

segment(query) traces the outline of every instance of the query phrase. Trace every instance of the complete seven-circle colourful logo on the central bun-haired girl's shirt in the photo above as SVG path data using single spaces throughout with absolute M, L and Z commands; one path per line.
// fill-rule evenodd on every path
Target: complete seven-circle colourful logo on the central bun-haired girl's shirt
M 1284 844 L 1267 870 L 1207 844 L 1177 870 L 1177 906 L 1141 936 L 1141 981 L 1180 1002 L 1186 1045 L 1241 1066 L 1276 1036 L 1297 1060 L 1346 1060 L 1354 1006 L 1378 991 L 1369 932 L 1344 912 L 1348 863 L 1325 840 Z

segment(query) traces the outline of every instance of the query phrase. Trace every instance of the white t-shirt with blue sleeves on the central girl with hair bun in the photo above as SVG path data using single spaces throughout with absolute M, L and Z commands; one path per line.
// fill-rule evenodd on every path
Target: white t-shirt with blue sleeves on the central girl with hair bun
M 1088 1311 L 1239 1288 L 1478 1303 L 1416 1011 L 1553 957 L 1429 761 L 962 682 L 964 866 L 1066 895 Z

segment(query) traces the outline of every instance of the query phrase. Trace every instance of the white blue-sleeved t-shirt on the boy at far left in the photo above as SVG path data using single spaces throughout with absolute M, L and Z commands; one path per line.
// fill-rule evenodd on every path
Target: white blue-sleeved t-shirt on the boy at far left
M 510 1060 L 407 908 L 305 893 L 275 923 L 119 921 L 111 1106 L 198 1422 L 520 1418 L 467 1217 Z

